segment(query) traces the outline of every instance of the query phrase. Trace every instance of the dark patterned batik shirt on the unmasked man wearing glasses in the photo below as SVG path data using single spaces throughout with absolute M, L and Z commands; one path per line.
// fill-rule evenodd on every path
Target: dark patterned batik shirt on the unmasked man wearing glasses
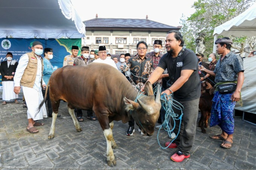
M 142 87 L 148 80 L 149 74 L 153 72 L 153 61 L 149 57 L 141 59 L 136 55 L 135 57 L 131 57 L 126 65 L 126 69 L 130 69 L 133 82 L 136 86 L 138 85 L 137 88 Z

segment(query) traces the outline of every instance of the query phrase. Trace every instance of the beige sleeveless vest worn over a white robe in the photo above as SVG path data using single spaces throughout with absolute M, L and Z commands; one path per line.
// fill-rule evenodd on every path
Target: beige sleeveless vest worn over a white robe
M 21 77 L 20 85 L 33 88 L 35 84 L 35 78 L 37 77 L 37 57 L 35 56 L 34 51 L 32 51 L 32 53 L 27 53 L 27 56 L 29 56 L 29 63 L 27 63 L 27 67 Z M 41 79 L 41 86 L 42 86 L 43 70 L 44 70 L 42 57 L 41 57 L 41 63 L 42 63 L 42 79 Z

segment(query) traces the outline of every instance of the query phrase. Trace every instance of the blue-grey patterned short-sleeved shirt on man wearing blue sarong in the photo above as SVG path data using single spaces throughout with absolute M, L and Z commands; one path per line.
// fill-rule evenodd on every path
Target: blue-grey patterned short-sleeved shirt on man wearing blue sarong
M 219 58 L 221 59 L 222 56 Z M 225 81 L 236 81 L 238 72 L 244 71 L 244 62 L 242 57 L 230 52 L 224 59 L 219 60 L 214 69 L 215 82 L 225 82 Z

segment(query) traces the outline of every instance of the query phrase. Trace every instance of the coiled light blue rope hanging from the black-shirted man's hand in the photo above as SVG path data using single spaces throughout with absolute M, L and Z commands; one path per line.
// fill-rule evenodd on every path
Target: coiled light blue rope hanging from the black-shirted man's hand
M 158 132 L 157 132 L 157 141 L 158 141 L 158 144 L 160 145 L 160 147 L 162 149 L 166 149 L 168 148 L 171 143 L 173 143 L 173 141 L 177 138 L 177 136 L 180 134 L 180 125 L 181 125 L 181 120 L 182 120 L 182 116 L 183 116 L 183 105 L 180 104 L 180 102 L 178 101 L 175 101 L 173 99 L 173 93 L 171 95 L 167 95 L 166 93 L 163 93 L 161 95 L 161 103 L 162 103 L 162 107 L 163 109 L 166 111 L 165 113 L 165 121 L 162 123 L 162 125 L 160 126 Z M 176 108 L 178 110 L 181 110 L 181 115 L 179 116 L 178 114 L 176 114 L 173 110 L 173 108 Z M 174 121 L 174 126 L 173 128 L 171 129 L 170 128 L 170 124 L 171 124 L 171 119 Z M 174 131 L 174 128 L 176 126 L 176 120 L 179 120 L 179 130 L 178 130 L 178 133 L 176 134 L 176 137 L 174 139 L 171 140 L 170 144 L 166 147 L 163 147 L 161 146 L 160 142 L 159 142 L 159 132 L 161 130 L 161 128 L 163 127 L 163 129 L 165 131 L 168 132 L 168 135 L 171 136 L 172 132 Z

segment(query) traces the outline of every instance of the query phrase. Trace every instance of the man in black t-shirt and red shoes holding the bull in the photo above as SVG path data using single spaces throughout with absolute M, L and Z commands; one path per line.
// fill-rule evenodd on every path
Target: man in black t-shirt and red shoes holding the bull
M 174 143 L 166 142 L 166 146 L 178 149 L 178 152 L 171 156 L 175 162 L 181 162 L 184 158 L 190 157 L 190 149 L 195 140 L 197 125 L 198 104 L 201 95 L 200 78 L 198 75 L 198 59 L 192 50 L 183 48 L 182 35 L 177 30 L 167 33 L 165 47 L 168 53 L 163 55 L 157 68 L 151 73 L 148 81 L 153 84 L 167 68 L 171 87 L 162 92 L 170 95 L 174 93 L 174 100 L 180 102 L 183 109 L 183 117 L 178 134 L 179 123 L 175 123 L 174 132 L 177 138 Z M 144 87 L 141 89 L 144 90 Z M 176 114 L 181 111 L 173 108 Z M 174 122 L 172 121 L 172 126 Z M 170 145 L 169 145 L 170 144 Z

